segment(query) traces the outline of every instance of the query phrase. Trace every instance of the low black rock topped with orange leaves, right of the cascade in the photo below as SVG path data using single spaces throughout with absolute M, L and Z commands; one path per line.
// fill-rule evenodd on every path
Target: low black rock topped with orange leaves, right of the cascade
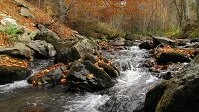
M 168 64 L 170 62 L 177 63 L 177 62 L 190 62 L 191 59 L 189 56 L 186 56 L 181 53 L 175 53 L 175 52 L 165 52 L 161 53 L 159 57 L 156 59 L 158 64 Z

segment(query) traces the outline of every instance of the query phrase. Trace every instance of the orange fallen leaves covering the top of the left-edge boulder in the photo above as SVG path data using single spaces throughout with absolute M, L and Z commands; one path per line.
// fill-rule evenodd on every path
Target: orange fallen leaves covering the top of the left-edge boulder
M 0 66 L 28 68 L 29 63 L 25 60 L 19 60 L 10 56 L 2 55 L 0 56 Z

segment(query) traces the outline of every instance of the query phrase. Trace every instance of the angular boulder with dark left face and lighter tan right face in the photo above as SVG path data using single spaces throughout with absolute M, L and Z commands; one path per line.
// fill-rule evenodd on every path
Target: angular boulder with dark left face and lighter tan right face
M 88 53 L 93 54 L 95 51 L 96 46 L 91 40 L 82 39 L 74 42 L 70 47 L 59 50 L 55 62 L 73 62 L 83 58 Z

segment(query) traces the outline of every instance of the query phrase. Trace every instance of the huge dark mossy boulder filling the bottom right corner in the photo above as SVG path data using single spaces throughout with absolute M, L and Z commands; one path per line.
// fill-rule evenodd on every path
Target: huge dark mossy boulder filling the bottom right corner
M 199 110 L 199 56 L 174 78 L 151 89 L 146 112 L 197 112 Z

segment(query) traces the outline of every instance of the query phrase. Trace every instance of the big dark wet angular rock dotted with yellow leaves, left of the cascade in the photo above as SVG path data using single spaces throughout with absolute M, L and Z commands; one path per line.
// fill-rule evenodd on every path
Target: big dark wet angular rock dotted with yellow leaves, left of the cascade
M 75 61 L 68 75 L 69 89 L 72 90 L 94 92 L 111 87 L 113 84 L 113 79 L 90 61 Z

